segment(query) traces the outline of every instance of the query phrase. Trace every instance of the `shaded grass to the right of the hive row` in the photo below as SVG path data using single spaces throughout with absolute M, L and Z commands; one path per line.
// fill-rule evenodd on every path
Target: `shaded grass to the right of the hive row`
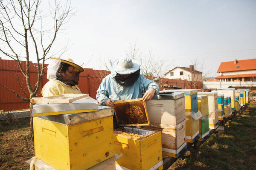
M 256 170 L 256 104 L 213 133 L 199 148 L 198 161 L 178 159 L 168 170 Z

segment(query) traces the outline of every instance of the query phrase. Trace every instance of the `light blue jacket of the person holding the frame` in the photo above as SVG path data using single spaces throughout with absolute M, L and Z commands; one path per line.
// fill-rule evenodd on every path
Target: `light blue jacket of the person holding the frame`
M 111 99 L 114 102 L 128 99 L 142 98 L 142 93 L 145 93 L 149 88 L 154 88 L 155 94 L 159 93 L 159 87 L 154 82 L 140 74 L 137 81 L 128 87 L 119 85 L 113 77 L 115 74 L 109 74 L 102 80 L 97 90 L 96 99 L 100 105 L 106 105 L 107 99 Z

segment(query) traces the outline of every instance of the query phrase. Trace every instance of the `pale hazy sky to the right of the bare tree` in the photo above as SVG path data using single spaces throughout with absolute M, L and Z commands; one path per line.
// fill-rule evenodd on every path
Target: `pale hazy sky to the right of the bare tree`
M 216 77 L 221 62 L 256 58 L 255 0 L 73 0 L 76 14 L 55 43 L 85 68 L 125 56 L 136 42 L 166 60 Z M 203 66 L 201 66 L 203 64 Z

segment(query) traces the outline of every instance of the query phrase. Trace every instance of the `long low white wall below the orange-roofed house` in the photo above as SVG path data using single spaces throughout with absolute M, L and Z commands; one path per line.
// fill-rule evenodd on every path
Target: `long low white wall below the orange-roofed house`
M 229 86 L 256 86 L 256 82 L 203 82 L 203 88 L 228 88 Z

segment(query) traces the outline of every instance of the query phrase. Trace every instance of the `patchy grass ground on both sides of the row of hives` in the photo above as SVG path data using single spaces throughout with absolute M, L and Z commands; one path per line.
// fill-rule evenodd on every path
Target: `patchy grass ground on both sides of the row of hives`
M 225 125 L 225 133 L 213 133 L 200 147 L 193 162 L 189 152 L 168 170 L 256 170 L 256 104 Z M 34 156 L 29 118 L 14 123 L 0 121 L 0 170 L 28 170 L 25 161 Z

